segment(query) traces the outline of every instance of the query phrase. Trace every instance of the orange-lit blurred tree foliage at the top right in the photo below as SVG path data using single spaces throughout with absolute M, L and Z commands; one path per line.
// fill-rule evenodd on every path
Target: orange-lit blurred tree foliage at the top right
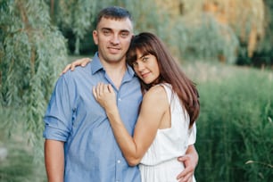
M 257 42 L 264 36 L 265 11 L 262 0 L 206 0 L 203 11 L 213 14 L 220 23 L 230 25 L 247 46 L 247 56 L 252 57 Z

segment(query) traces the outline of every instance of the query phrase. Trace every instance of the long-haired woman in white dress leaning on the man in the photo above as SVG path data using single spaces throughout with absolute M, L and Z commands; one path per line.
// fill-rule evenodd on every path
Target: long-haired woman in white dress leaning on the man
M 195 142 L 198 92 L 152 33 L 140 33 L 132 39 L 127 61 L 141 79 L 144 93 L 133 137 L 120 119 L 115 89 L 101 83 L 93 88 L 93 95 L 105 109 L 128 164 L 139 164 L 142 181 L 178 181 L 184 166 L 177 158 Z M 68 68 L 70 65 L 65 71 Z

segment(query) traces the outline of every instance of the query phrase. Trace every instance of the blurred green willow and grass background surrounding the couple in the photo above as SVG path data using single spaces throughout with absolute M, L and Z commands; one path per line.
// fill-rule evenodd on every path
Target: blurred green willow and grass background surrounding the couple
M 94 54 L 109 5 L 161 37 L 197 84 L 197 181 L 272 181 L 272 0 L 0 0 L 0 181 L 46 181 L 48 99 L 64 65 Z

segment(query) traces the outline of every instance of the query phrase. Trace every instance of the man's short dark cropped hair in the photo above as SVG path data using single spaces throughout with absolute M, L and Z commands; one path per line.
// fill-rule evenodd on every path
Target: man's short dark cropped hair
M 102 20 L 105 19 L 113 19 L 113 20 L 121 20 L 128 18 L 133 22 L 132 16 L 128 10 L 119 6 L 110 6 L 101 10 L 96 17 L 95 26 Z

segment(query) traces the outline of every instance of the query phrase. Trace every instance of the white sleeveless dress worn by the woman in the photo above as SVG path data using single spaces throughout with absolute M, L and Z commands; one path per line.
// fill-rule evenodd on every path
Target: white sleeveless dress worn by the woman
M 188 145 L 195 143 L 196 126 L 189 129 L 189 116 L 172 94 L 170 84 L 161 84 L 170 103 L 171 127 L 158 129 L 153 144 L 140 161 L 142 182 L 178 182 L 178 174 L 185 169 L 178 157 L 186 153 Z M 195 179 L 193 180 L 193 182 Z

